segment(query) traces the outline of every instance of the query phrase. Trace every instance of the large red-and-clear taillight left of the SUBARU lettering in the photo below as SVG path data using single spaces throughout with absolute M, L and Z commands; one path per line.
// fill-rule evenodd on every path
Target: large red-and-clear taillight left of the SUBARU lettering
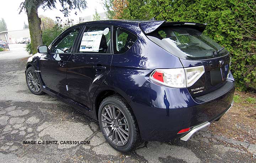
M 165 86 L 185 88 L 192 86 L 203 74 L 204 66 L 185 69 L 156 69 L 150 75 L 150 79 Z

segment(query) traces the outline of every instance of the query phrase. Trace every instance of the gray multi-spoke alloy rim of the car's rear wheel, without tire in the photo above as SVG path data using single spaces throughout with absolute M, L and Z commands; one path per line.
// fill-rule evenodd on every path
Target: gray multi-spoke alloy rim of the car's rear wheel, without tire
M 101 112 L 103 132 L 116 146 L 124 146 L 129 140 L 129 125 L 123 112 L 113 104 L 107 104 Z

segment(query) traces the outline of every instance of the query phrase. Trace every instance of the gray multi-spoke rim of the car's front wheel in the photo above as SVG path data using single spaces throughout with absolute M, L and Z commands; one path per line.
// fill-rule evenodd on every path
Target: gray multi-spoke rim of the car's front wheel
M 34 92 L 39 92 L 41 89 L 37 73 L 33 70 L 27 73 L 27 85 Z

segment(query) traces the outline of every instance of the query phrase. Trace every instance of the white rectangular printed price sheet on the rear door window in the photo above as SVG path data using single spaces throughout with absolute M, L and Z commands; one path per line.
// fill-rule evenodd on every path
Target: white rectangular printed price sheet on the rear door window
M 103 31 L 84 32 L 79 51 L 98 52 Z

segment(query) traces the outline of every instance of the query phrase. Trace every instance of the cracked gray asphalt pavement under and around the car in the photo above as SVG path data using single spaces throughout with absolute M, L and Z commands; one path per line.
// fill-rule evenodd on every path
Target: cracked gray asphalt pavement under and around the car
M 120 153 L 103 138 L 97 121 L 26 86 L 25 45 L 0 52 L 0 162 L 256 162 L 256 145 L 207 132 L 190 141 L 142 142 Z M 90 145 L 23 145 L 23 141 L 90 141 Z

